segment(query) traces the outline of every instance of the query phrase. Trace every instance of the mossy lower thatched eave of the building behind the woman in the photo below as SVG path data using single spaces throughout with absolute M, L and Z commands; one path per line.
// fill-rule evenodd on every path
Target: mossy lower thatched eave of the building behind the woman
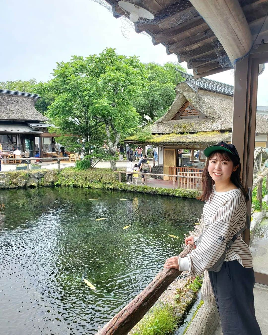
M 164 135 L 152 135 L 144 141 L 144 143 L 156 143 L 156 144 L 214 144 L 220 141 L 228 141 L 231 139 L 232 134 L 230 132 L 220 133 L 219 131 L 205 131 L 194 134 L 164 134 Z M 125 142 L 141 143 L 136 136 L 129 136 L 125 139 Z

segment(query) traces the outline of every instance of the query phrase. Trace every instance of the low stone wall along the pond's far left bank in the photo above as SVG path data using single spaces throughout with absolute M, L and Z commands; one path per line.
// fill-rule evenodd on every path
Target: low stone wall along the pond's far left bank
M 58 170 L 22 170 L 0 174 L 0 189 L 53 186 L 59 179 Z

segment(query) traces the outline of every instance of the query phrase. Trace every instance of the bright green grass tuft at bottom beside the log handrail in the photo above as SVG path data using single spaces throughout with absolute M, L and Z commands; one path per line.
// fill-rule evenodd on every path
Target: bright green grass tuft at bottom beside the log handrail
M 137 324 L 133 335 L 172 334 L 177 327 L 175 308 L 170 305 L 156 305 Z

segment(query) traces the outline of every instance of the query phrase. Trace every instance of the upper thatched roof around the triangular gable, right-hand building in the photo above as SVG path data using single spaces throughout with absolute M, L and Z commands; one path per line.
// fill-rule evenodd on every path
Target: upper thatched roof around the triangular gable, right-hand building
M 210 81 L 214 82 L 214 80 Z M 187 80 L 180 82 L 175 87 L 175 91 L 177 95 L 169 111 L 148 126 L 152 134 L 231 131 L 233 111 L 233 97 L 231 95 L 212 92 L 207 88 L 193 88 Z M 172 120 L 187 100 L 204 117 Z M 256 133 L 268 134 L 268 122 L 259 115 L 256 117 Z

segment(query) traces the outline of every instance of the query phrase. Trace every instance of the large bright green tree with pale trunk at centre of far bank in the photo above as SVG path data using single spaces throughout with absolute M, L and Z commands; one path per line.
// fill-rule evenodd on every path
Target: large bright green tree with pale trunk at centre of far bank
M 110 154 L 115 156 L 120 137 L 130 134 L 139 121 L 131 101 L 145 80 L 143 64 L 136 56 L 118 55 L 107 48 L 98 56 L 73 56 L 69 62 L 57 63 L 53 74 L 54 79 L 36 86 L 42 96 L 55 96 L 48 116 L 71 122 L 86 143 L 92 143 L 92 127 L 104 125 Z M 110 161 L 116 169 L 115 160 Z

